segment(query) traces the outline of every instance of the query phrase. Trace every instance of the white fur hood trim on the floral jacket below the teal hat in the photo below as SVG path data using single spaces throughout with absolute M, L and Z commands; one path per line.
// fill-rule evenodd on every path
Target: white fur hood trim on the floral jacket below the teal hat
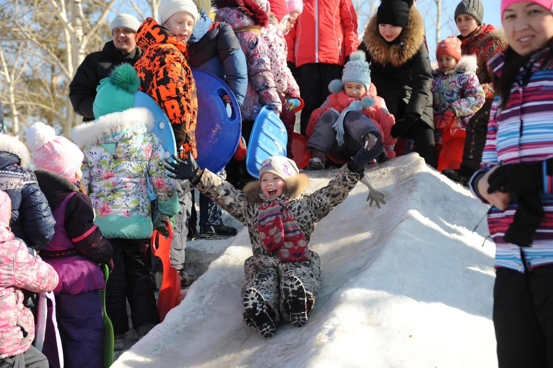
M 71 138 L 79 146 L 91 146 L 100 141 L 106 132 L 121 132 L 126 129 L 147 128 L 154 126 L 154 116 L 145 107 L 133 107 L 122 112 L 113 112 L 83 123 L 73 128 Z

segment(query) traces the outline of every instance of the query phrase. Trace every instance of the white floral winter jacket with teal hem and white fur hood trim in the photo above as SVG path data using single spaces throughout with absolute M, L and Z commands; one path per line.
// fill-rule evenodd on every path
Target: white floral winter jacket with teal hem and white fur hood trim
M 160 212 L 179 212 L 175 184 L 164 165 L 165 150 L 148 132 L 153 123 L 152 113 L 138 107 L 73 128 L 73 141 L 85 155 L 81 184 L 92 201 L 94 224 L 108 239 L 152 236 L 148 182 Z

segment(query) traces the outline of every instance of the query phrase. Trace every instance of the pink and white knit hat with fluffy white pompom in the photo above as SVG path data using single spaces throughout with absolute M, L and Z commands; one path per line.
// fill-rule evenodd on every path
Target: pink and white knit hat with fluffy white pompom
M 33 151 L 37 169 L 46 169 L 62 177 L 75 178 L 85 157 L 69 139 L 56 136 L 53 127 L 36 122 L 27 129 L 27 146 Z

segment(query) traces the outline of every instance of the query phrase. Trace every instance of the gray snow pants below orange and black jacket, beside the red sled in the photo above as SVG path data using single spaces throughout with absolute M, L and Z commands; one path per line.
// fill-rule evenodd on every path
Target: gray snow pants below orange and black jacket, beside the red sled
M 174 180 L 177 194 L 179 195 L 179 214 L 175 215 L 175 227 L 173 229 L 173 240 L 171 240 L 171 249 L 169 258 L 171 266 L 177 271 L 184 269 L 186 236 L 188 235 L 188 220 L 192 210 L 192 194 L 184 194 L 188 185 L 187 180 Z M 154 209 L 154 221 L 159 212 L 157 201 Z M 152 255 L 152 272 L 163 271 L 163 265 L 158 257 Z

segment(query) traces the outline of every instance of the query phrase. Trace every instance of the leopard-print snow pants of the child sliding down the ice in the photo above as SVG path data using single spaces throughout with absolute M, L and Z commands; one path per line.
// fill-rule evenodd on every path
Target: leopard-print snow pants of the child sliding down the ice
M 319 292 L 321 284 L 321 260 L 314 251 L 307 250 L 305 255 L 307 261 L 284 262 L 278 257 L 278 252 L 274 256 L 253 255 L 244 262 L 244 281 L 242 281 L 242 294 L 248 288 L 255 288 L 263 298 L 269 315 L 273 322 L 278 324 L 280 313 L 284 319 L 290 320 L 290 310 L 288 303 L 283 295 L 283 282 L 286 276 L 296 276 L 304 284 L 305 294 L 307 296 L 307 314 L 311 312 L 315 305 L 315 298 Z M 246 312 L 243 313 L 244 322 L 255 329 L 255 325 L 249 319 Z

